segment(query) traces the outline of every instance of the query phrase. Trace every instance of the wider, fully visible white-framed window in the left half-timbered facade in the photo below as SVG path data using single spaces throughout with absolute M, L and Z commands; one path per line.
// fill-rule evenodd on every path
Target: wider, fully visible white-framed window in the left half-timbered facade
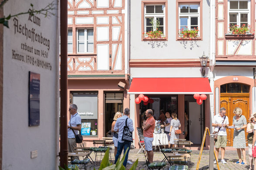
M 77 53 L 93 52 L 93 29 L 77 29 L 76 36 Z

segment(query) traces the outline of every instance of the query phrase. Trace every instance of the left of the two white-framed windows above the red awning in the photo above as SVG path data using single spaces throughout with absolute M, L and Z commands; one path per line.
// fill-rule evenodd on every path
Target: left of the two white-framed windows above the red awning
M 153 24 L 152 24 L 153 21 Z M 155 25 L 155 27 L 154 27 Z M 163 34 L 166 32 L 165 5 L 147 4 L 144 6 L 144 32 L 156 31 L 156 26 Z

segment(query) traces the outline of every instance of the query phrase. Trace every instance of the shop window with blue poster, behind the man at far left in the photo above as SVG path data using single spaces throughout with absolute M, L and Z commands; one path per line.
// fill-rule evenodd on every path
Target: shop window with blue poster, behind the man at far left
M 82 119 L 81 134 L 97 136 L 98 134 L 98 93 L 72 92 L 72 103 L 76 104 L 77 112 Z M 96 130 L 97 129 L 97 130 Z

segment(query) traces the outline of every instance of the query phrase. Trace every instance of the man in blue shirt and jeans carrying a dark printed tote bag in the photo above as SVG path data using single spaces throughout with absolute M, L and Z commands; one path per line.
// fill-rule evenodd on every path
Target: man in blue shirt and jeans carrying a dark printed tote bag
M 126 164 L 127 164 L 127 160 L 128 160 L 128 154 L 129 154 L 129 151 L 130 151 L 130 146 L 131 146 L 131 142 L 128 142 L 128 141 L 123 141 L 122 140 L 122 136 L 123 136 L 123 131 L 124 131 L 124 126 L 125 126 L 125 120 L 127 119 L 127 126 L 129 127 L 129 130 L 130 132 L 133 132 L 134 131 L 134 128 L 133 128 L 133 122 L 132 120 L 129 118 L 130 116 L 130 109 L 128 108 L 125 108 L 125 112 L 124 112 L 124 116 L 120 117 L 117 119 L 117 122 L 114 126 L 114 132 L 117 132 L 118 129 L 118 152 L 115 156 L 115 161 L 114 163 L 116 163 L 118 161 L 118 158 L 119 156 L 121 155 L 122 153 L 122 150 L 124 149 L 124 153 L 126 151 L 126 149 L 128 148 L 128 151 L 126 153 L 126 156 L 125 156 L 125 160 L 124 160 L 124 163 L 123 165 L 126 167 Z

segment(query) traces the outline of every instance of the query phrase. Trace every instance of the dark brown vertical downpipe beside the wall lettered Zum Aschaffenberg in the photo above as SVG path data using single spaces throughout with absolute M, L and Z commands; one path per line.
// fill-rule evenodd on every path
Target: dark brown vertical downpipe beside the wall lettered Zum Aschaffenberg
M 67 127 L 67 38 L 68 38 L 68 1 L 60 0 L 60 167 L 68 164 L 68 127 Z

